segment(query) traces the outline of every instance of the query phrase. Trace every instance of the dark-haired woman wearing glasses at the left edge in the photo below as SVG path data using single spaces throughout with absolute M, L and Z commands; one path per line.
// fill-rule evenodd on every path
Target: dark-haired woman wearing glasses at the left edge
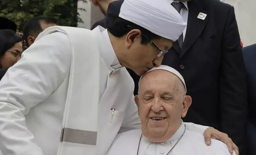
M 9 67 L 21 59 L 22 37 L 13 30 L 0 30 L 0 79 Z

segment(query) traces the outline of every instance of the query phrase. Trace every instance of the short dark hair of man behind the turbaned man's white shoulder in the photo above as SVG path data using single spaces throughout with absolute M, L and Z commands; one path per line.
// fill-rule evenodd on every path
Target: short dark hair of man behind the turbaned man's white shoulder
M 45 21 L 47 24 L 54 23 L 51 19 L 43 16 L 37 16 L 29 19 L 23 27 L 23 39 L 26 41 L 27 45 L 27 38 L 29 36 L 37 37 L 38 34 L 43 31 L 40 24 L 41 21 Z

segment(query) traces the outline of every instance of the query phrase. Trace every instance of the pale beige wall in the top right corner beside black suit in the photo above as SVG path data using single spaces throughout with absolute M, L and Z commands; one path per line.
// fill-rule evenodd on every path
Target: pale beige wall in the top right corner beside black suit
M 240 38 L 244 46 L 256 43 L 256 0 L 221 0 L 235 8 Z

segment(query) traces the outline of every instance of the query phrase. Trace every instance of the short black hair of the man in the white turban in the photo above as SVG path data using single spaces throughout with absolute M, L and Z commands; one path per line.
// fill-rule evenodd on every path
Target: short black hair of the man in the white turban
M 154 40 L 154 39 L 160 39 L 162 38 L 161 36 L 158 36 L 156 34 L 153 34 L 149 30 L 136 25 L 130 21 L 126 21 L 125 19 L 122 19 L 120 17 L 116 17 L 112 20 L 111 23 L 109 23 L 108 30 L 109 32 L 115 36 L 115 37 L 122 37 L 128 32 L 130 32 L 132 29 L 139 29 L 145 36 L 147 36 L 149 39 Z M 145 45 L 147 44 L 148 41 L 145 37 L 142 37 L 141 44 Z

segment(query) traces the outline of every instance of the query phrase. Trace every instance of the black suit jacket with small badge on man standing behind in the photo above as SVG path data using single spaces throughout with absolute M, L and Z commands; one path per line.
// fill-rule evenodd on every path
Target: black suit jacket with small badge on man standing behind
M 247 86 L 234 8 L 218 0 L 191 0 L 188 7 L 183 48 L 180 51 L 178 42 L 173 43 L 162 62 L 182 74 L 187 95 L 192 96 L 192 105 L 183 120 L 227 133 L 239 146 L 240 155 L 245 155 Z M 117 15 L 120 12 L 113 11 Z M 207 14 L 205 20 L 197 18 L 200 12 Z M 134 79 L 136 95 L 139 76 L 128 71 Z

